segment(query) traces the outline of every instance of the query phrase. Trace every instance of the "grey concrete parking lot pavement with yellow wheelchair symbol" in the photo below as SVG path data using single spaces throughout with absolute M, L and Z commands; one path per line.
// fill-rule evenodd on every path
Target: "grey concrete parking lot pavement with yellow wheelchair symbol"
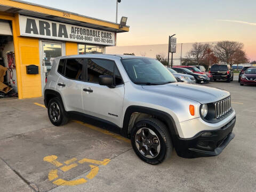
M 226 149 L 195 159 L 173 151 L 155 166 L 142 162 L 129 140 L 99 127 L 53 126 L 43 98 L 2 99 L 0 191 L 256 191 L 256 86 L 236 78 L 206 85 L 231 93 L 236 137 Z

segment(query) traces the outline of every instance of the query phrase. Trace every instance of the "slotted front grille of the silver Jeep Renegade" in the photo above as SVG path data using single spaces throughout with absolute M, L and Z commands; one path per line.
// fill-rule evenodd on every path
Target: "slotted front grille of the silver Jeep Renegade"
M 221 116 L 227 114 L 231 110 L 231 98 L 230 96 L 226 99 L 222 99 L 215 102 L 215 118 L 220 118 Z

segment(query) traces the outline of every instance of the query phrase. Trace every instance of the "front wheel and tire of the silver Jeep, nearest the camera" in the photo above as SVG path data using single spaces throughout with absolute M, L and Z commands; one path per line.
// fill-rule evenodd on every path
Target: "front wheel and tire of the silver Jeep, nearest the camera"
M 131 142 L 137 156 L 152 165 L 162 163 L 173 150 L 167 127 L 155 118 L 137 122 L 131 132 Z

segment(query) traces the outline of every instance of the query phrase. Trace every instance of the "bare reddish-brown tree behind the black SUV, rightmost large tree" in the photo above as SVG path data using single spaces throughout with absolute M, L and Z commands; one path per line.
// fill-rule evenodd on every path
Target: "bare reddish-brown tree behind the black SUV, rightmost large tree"
M 238 62 L 238 60 L 245 61 L 246 55 L 243 51 L 243 47 L 244 45 L 239 42 L 222 41 L 214 46 L 214 54 L 220 61 L 229 63 L 230 66 L 232 66 L 235 62 Z

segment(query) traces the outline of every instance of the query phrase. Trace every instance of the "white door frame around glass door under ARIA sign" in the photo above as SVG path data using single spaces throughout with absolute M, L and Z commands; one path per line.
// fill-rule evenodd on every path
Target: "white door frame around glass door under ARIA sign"
M 45 86 L 45 73 L 44 73 L 44 68 L 43 68 L 43 59 L 44 59 L 44 43 L 55 43 L 55 44 L 60 44 L 61 45 L 61 56 L 66 55 L 66 42 L 59 42 L 59 41 L 47 41 L 47 40 L 42 40 L 39 39 L 39 59 L 40 59 L 40 74 L 41 74 L 41 86 L 42 86 L 42 95 L 44 94 L 44 86 Z

